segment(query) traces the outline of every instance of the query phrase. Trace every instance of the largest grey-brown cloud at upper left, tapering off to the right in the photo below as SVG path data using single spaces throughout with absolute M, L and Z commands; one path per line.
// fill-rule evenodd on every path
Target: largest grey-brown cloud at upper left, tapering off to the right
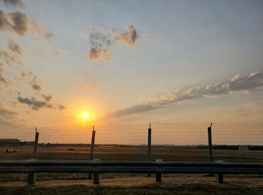
M 21 12 L 4 13 L 0 11 L 0 29 L 8 30 L 20 36 L 28 33 L 40 35 L 45 38 L 54 37 L 55 33 L 49 31 L 43 24 L 38 24 L 35 20 L 30 20 Z

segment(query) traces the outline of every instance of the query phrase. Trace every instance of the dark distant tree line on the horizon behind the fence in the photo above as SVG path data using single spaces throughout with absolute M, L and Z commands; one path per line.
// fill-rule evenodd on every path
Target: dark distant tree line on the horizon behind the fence
M 38 146 L 43 146 L 43 143 L 38 144 Z M 46 146 L 55 147 L 91 147 L 91 144 L 50 144 L 47 143 Z M 98 146 L 117 146 L 121 148 L 147 148 L 147 145 L 117 145 L 117 144 L 95 144 L 94 147 Z M 167 149 L 195 149 L 195 150 L 208 150 L 208 145 L 199 146 L 164 146 L 164 145 L 151 145 L 151 148 L 167 148 Z M 238 145 L 213 145 L 213 150 L 238 150 Z M 263 146 L 249 145 L 249 150 L 263 150 Z

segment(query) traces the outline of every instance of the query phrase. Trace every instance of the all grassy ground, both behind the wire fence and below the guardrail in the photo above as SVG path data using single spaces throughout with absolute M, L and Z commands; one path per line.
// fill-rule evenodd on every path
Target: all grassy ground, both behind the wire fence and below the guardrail
M 33 148 L 16 148 L 6 153 L 0 147 L 1 160 L 32 159 Z M 10 149 L 10 148 L 9 148 Z M 14 149 L 14 148 L 12 148 Z M 95 148 L 94 159 L 147 161 L 146 148 Z M 39 147 L 38 160 L 89 160 L 90 148 Z M 151 160 L 208 162 L 208 150 L 152 149 Z M 213 150 L 213 160 L 226 162 L 263 162 L 263 151 L 239 152 Z M 84 173 L 37 173 L 35 186 L 26 185 L 28 174 L 1 174 L 0 194 L 263 194 L 262 176 L 225 175 L 224 184 L 204 174 L 162 174 L 156 183 L 154 174 L 103 173 L 94 186 Z M 54 185 L 56 183 L 57 185 Z

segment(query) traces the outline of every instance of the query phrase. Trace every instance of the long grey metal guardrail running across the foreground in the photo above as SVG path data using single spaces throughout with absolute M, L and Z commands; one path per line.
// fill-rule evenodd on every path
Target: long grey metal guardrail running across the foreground
M 263 163 L 164 161 L 0 161 L 0 173 L 215 173 L 263 175 Z M 95 181 L 95 174 L 96 180 Z M 157 181 L 157 177 L 156 177 Z

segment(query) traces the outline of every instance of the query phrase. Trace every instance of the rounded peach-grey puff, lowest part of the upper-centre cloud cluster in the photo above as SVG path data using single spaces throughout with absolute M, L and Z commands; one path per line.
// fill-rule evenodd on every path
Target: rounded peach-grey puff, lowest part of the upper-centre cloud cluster
M 89 54 L 86 56 L 88 56 L 90 60 L 110 60 L 112 59 L 112 52 L 108 49 L 102 49 L 100 46 L 96 46 L 91 48 Z

